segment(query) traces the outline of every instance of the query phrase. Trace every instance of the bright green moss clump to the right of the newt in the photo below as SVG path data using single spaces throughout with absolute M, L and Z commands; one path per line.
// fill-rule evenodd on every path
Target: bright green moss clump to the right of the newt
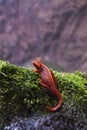
M 70 105 L 78 104 L 81 108 L 87 108 L 87 77 L 85 73 L 55 73 L 59 81 L 59 89 L 62 92 L 63 100 L 74 100 Z

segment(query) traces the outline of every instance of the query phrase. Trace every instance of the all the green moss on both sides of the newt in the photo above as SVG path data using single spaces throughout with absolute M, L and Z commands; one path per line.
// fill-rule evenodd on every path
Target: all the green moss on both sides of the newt
M 73 108 L 87 116 L 87 77 L 85 73 L 59 73 L 53 71 L 58 89 L 63 96 L 61 111 Z M 51 102 L 51 99 L 53 102 Z M 17 67 L 0 60 L 0 122 L 6 122 L 15 115 L 25 115 L 37 109 L 46 112 L 46 105 L 54 105 L 47 90 L 39 83 L 39 75 L 31 69 Z

